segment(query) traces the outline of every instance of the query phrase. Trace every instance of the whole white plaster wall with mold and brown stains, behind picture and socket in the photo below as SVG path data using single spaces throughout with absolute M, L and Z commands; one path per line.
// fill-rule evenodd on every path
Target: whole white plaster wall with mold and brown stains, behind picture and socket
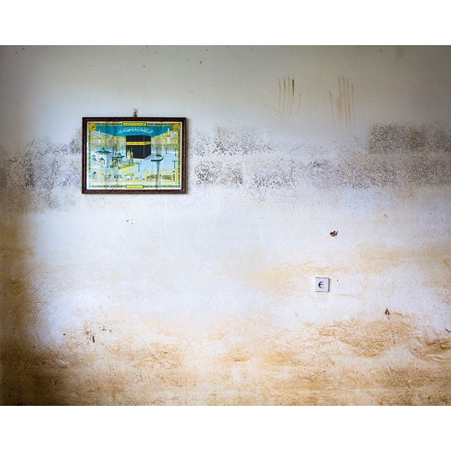
M 451 404 L 450 48 L 2 47 L 0 83 L 1 404 Z M 82 116 L 133 109 L 188 118 L 187 194 L 81 194 Z

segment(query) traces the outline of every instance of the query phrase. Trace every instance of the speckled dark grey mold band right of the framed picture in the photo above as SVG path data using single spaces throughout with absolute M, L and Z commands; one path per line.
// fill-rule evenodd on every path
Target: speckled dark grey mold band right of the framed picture
M 375 125 L 361 148 L 337 149 L 339 155 L 323 159 L 311 149 L 317 156 L 306 163 L 298 148 L 264 142 L 257 131 L 238 135 L 236 130 L 220 128 L 216 137 L 202 137 L 202 147 L 192 140 L 194 175 L 197 185 L 237 184 L 247 192 L 295 187 L 293 196 L 309 185 L 328 190 L 442 186 L 451 180 L 448 137 L 435 127 Z M 216 158 L 218 153 L 221 159 Z

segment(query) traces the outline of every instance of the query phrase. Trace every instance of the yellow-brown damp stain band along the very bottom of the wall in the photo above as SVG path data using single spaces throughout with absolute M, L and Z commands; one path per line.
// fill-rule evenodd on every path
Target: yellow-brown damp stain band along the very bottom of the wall
M 264 337 L 258 332 L 264 327 Z M 168 333 L 172 343 L 126 340 L 51 349 L 10 341 L 2 350 L 4 404 L 324 405 L 451 402 L 450 361 L 431 355 L 450 340 L 421 342 L 414 319 L 303 323 L 271 328 L 252 319 L 219 325 L 222 335 Z M 106 335 L 109 336 L 109 335 Z M 234 344 L 239 338 L 241 345 Z M 217 340 L 224 352 L 210 354 Z M 73 341 L 68 338 L 68 341 Z M 193 352 L 197 349 L 197 352 Z M 406 350 L 407 362 L 392 350 Z M 199 351 L 201 350 L 201 351 Z

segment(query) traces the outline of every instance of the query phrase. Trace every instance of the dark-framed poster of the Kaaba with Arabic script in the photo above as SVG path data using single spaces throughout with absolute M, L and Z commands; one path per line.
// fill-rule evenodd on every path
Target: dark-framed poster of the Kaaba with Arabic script
M 186 118 L 83 118 L 82 192 L 185 192 Z

